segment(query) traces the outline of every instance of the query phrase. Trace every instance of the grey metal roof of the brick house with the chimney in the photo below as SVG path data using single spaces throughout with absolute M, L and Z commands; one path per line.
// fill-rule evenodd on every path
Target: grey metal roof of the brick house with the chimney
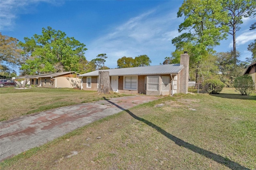
M 90 73 L 78 75 L 79 77 L 98 76 L 99 71 L 109 71 L 110 76 L 114 75 L 156 75 L 156 74 L 177 74 L 183 68 L 180 64 L 154 65 L 145 67 L 129 67 L 120 69 L 96 70 Z

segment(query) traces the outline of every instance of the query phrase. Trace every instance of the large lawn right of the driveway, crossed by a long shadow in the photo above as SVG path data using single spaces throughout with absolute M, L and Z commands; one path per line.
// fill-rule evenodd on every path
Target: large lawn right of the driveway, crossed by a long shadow
M 161 105 L 159 105 L 161 104 Z M 256 169 L 256 93 L 164 97 L 101 119 L 2 169 Z

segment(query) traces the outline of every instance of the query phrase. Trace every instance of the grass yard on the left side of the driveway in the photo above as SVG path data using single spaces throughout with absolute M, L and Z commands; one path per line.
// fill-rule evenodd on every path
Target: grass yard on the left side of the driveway
M 120 97 L 119 93 L 99 95 L 96 91 L 70 88 L 14 89 L 0 88 L 0 121 L 6 121 L 48 109 L 104 100 L 103 97 Z

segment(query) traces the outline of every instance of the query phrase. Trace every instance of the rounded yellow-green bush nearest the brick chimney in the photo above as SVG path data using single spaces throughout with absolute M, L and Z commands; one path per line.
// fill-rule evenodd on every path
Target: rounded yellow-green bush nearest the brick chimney
M 219 79 L 208 79 L 202 83 L 202 91 L 204 93 L 219 94 L 225 84 Z

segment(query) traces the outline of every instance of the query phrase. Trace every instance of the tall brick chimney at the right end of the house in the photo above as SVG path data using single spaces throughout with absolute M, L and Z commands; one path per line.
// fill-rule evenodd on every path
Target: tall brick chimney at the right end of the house
M 188 51 L 184 51 L 180 55 L 180 65 L 183 65 L 180 71 L 180 93 L 188 93 L 188 69 L 189 69 L 189 55 Z

